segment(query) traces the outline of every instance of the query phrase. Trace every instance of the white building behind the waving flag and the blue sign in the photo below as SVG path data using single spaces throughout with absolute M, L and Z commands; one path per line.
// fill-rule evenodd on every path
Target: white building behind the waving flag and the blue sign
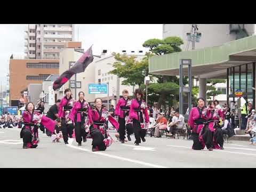
M 83 54 L 83 50 L 74 49 L 74 48 L 65 48 L 60 51 L 60 74 L 65 70 L 69 69 L 69 63 L 76 62 Z M 128 86 L 122 85 L 122 78 L 118 78 L 116 75 L 109 74 L 109 71 L 113 70 L 113 64 L 116 62 L 114 55 L 107 54 L 107 50 L 103 50 L 104 53 L 99 57 L 94 57 L 94 60 L 90 65 L 85 69 L 84 73 L 79 73 L 76 76 L 77 89 L 76 89 L 76 99 L 78 99 L 78 92 L 83 91 L 85 93 L 85 99 L 88 102 L 94 102 L 95 98 L 101 98 L 104 105 L 109 103 L 116 105 L 116 98 L 119 90 L 119 97 L 122 95 L 122 91 L 127 89 L 129 95 L 133 95 L 133 90 L 137 89 L 138 86 Z M 141 60 L 145 55 L 143 52 L 123 52 L 127 56 L 136 56 L 138 60 Z M 65 85 L 58 90 L 57 98 L 60 99 L 63 97 L 63 90 L 70 87 L 71 92 L 73 93 L 73 98 L 75 98 L 75 76 L 73 76 L 70 82 L 67 82 Z M 109 82 L 109 98 L 108 94 L 89 94 L 89 84 L 91 83 L 101 83 L 106 84 Z

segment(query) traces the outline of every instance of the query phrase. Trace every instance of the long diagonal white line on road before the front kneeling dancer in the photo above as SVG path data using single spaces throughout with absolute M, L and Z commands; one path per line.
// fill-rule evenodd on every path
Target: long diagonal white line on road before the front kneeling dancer
M 138 161 L 138 160 L 135 160 L 135 159 L 119 157 L 119 156 L 116 156 L 116 155 L 109 155 L 109 154 L 102 153 L 102 152 L 99 152 L 99 151 L 94 151 L 93 152 L 93 151 L 91 151 L 89 149 L 84 149 L 84 148 L 81 148 L 81 147 L 76 147 L 76 146 L 73 146 L 71 144 L 68 144 L 66 146 L 74 148 L 74 149 L 86 151 L 86 152 L 91 153 L 91 154 L 102 155 L 102 156 L 106 156 L 106 157 L 110 157 L 110 158 L 120 159 L 122 161 L 127 161 L 127 162 L 132 162 L 132 163 L 137 163 L 137 164 L 145 165 L 145 166 L 150 166 L 150 167 L 155 167 L 155 168 L 168 168 L 168 167 L 165 167 L 165 166 L 151 164 L 151 163 L 147 163 L 147 162 L 142 162 L 142 161 Z

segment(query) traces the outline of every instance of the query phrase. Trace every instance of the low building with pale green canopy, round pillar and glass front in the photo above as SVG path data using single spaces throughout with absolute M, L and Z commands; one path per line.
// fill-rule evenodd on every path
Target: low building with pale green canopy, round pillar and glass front
M 256 107 L 255 51 L 256 36 L 252 35 L 219 46 L 152 57 L 149 59 L 149 73 L 179 75 L 180 59 L 191 59 L 191 75 L 199 78 L 199 97 L 206 98 L 207 78 L 226 79 L 227 103 L 238 100 L 236 91 L 241 90 L 242 97 L 252 101 Z M 238 104 L 238 107 L 241 106 Z

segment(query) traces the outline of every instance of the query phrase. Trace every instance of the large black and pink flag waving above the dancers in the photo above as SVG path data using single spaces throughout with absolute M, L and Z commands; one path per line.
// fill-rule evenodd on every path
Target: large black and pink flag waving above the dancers
M 92 46 L 82 55 L 73 67 L 66 70 L 60 75 L 58 79 L 53 83 L 53 90 L 60 89 L 74 74 L 84 72 L 85 68 L 93 61 Z

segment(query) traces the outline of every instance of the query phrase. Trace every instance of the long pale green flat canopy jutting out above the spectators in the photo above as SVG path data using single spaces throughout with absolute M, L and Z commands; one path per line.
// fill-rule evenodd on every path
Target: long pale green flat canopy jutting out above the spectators
M 180 59 L 192 60 L 193 76 L 226 78 L 227 68 L 256 61 L 256 36 L 245 37 L 220 46 L 149 58 L 149 73 L 179 75 Z M 186 68 L 184 73 L 187 73 Z

